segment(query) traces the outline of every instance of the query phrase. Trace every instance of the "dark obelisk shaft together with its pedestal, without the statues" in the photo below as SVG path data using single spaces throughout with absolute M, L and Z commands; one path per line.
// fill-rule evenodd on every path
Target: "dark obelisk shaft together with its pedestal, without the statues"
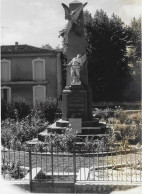
M 76 10 L 82 3 L 74 1 L 69 4 L 71 11 Z M 84 32 L 83 10 L 77 19 L 77 24 L 73 23 L 65 43 L 65 54 L 67 63 L 69 63 L 77 54 L 84 55 L 86 53 L 86 40 Z M 88 84 L 87 62 L 83 64 L 80 72 L 81 85 L 71 85 L 70 67 L 67 67 L 66 87 L 63 90 L 63 119 L 82 118 L 83 120 L 92 120 L 92 100 L 91 90 Z

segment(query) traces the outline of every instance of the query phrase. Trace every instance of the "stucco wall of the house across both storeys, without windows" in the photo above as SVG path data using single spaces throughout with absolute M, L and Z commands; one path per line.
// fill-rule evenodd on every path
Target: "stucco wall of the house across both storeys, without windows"
M 46 86 L 46 97 L 57 97 L 57 57 L 53 55 L 20 55 L 20 56 L 7 56 L 2 59 L 11 61 L 11 81 L 14 84 L 5 84 L 11 87 L 11 97 L 13 100 L 21 97 L 33 102 L 33 85 L 26 83 L 27 81 L 33 81 L 32 72 L 32 60 L 41 58 L 45 60 L 45 81 L 47 83 L 40 83 L 40 85 Z M 24 84 L 17 84 L 18 81 L 25 81 Z

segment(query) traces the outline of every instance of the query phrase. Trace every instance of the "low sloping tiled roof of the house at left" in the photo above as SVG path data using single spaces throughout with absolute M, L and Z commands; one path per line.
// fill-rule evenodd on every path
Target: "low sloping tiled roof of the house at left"
M 3 45 L 1 46 L 1 54 L 18 54 L 18 53 L 51 53 L 58 52 L 56 50 L 48 50 L 44 48 L 34 47 L 27 44 L 23 45 Z

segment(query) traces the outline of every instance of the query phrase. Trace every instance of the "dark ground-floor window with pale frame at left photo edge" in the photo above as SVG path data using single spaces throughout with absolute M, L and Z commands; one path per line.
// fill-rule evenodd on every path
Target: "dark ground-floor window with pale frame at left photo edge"
M 1 87 L 1 99 L 5 102 L 11 101 L 11 88 L 7 86 Z

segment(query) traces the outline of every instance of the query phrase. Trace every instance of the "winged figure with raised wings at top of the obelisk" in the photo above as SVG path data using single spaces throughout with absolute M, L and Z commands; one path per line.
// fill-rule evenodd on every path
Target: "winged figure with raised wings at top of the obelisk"
M 72 28 L 73 23 L 77 24 L 77 19 L 80 15 L 80 12 L 83 10 L 83 8 L 87 5 L 87 3 L 82 4 L 80 7 L 78 7 L 76 10 L 71 11 L 67 5 L 62 3 L 62 6 L 65 10 L 65 19 L 68 20 L 66 29 L 64 32 L 62 32 L 60 35 L 64 34 L 64 37 L 66 38 L 70 29 Z

